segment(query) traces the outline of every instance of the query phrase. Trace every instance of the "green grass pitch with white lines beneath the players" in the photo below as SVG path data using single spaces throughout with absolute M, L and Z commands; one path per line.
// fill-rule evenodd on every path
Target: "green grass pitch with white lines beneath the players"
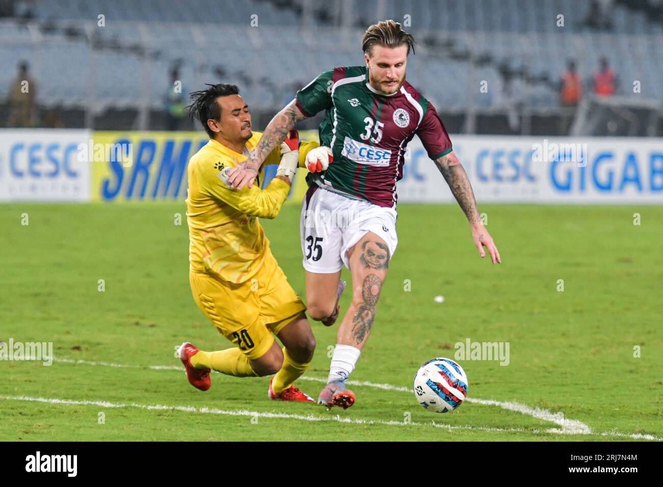
M 174 345 L 229 343 L 190 294 L 185 211 L 0 205 L 0 341 L 52 342 L 56 357 L 0 361 L 0 440 L 663 438 L 662 207 L 482 205 L 503 260 L 493 266 L 457 206 L 400 205 L 398 249 L 351 377 L 371 384 L 352 386 L 355 406 L 329 412 L 269 401 L 269 378 L 213 374 L 208 392 L 188 384 Z M 298 218 L 286 205 L 263 225 L 305 296 Z M 336 328 L 311 325 L 318 347 L 298 386 L 317 398 Z M 461 360 L 474 401 L 426 411 L 409 390 L 418 366 L 453 358 L 468 338 L 509 342 L 509 364 Z

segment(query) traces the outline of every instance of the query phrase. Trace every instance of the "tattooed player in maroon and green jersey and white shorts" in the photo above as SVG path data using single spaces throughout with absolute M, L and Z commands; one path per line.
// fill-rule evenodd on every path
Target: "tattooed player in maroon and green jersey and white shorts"
M 229 178 L 235 188 L 251 186 L 265 156 L 288 131 L 304 118 L 325 111 L 319 130 L 321 145 L 308 154 L 313 172 L 306 178 L 309 189 L 300 232 L 306 304 L 313 319 L 325 325 L 336 321 L 345 286 L 340 280 L 343 264 L 352 275 L 352 303 L 339 325 L 328 384 L 318 398 L 328 408 L 345 409 L 355 401 L 345 381 L 371 332 L 398 243 L 396 181 L 402 177 L 405 150 L 414 135 L 465 212 L 479 255 L 485 256 L 485 246 L 493 264 L 501 262 L 440 117 L 405 80 L 414 39 L 400 24 L 383 21 L 366 30 L 362 48 L 366 66 L 335 68 L 300 89 L 269 123 L 252 158 L 237 166 Z

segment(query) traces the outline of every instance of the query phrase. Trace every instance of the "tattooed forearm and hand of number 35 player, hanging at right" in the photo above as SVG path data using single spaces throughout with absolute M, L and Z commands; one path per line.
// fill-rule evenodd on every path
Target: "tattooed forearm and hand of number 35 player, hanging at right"
M 449 188 L 452 190 L 453 196 L 458 205 L 461 207 L 469 225 L 472 227 L 472 237 L 474 239 L 474 244 L 479 250 L 479 255 L 484 257 L 486 255 L 483 247 L 488 250 L 488 253 L 491 256 L 491 261 L 493 264 L 497 262 L 501 263 L 499 252 L 497 247 L 493 242 L 493 237 L 488 233 L 486 228 L 481 223 L 481 217 L 479 216 L 479 210 L 477 209 L 477 201 L 474 198 L 474 192 L 472 191 L 472 185 L 469 184 L 469 178 L 467 178 L 467 173 L 463 166 L 461 165 L 458 158 L 453 154 L 453 150 L 448 154 L 437 158 L 435 160 L 436 166 L 444 176 Z

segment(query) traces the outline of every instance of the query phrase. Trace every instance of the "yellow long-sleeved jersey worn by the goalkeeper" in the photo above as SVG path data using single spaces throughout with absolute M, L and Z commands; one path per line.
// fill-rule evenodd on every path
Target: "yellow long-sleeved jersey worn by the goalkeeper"
M 274 178 L 265 189 L 261 184 L 265 164 L 280 162 L 277 147 L 265 159 L 258 179 L 249 188 L 231 189 L 221 170 L 247 159 L 262 133 L 254 132 L 244 154 L 238 154 L 216 140 L 203 146 L 189 161 L 186 216 L 189 225 L 189 262 L 194 272 L 211 272 L 239 284 L 251 279 L 263 264 L 269 240 L 258 218 L 274 218 L 286 200 L 290 186 Z M 302 142 L 299 166 L 318 142 Z

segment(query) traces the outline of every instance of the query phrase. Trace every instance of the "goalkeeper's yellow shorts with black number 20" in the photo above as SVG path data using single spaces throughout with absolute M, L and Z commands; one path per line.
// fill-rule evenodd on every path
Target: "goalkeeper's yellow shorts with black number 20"
M 233 284 L 204 272 L 190 272 L 189 282 L 196 304 L 249 359 L 263 356 L 290 321 L 306 306 L 267 248 L 263 265 L 241 284 Z

